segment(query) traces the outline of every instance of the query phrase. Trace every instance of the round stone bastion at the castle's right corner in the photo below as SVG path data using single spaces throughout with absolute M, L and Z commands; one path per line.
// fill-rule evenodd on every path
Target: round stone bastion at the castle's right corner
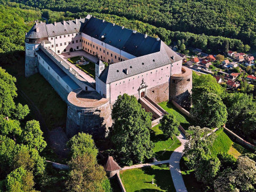
M 190 107 L 192 70 L 182 66 L 181 72 L 171 76 L 169 98 L 183 107 Z

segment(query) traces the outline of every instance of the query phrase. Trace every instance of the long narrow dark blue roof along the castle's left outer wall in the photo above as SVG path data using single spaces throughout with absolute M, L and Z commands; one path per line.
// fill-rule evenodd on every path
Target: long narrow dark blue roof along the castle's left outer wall
M 37 54 L 47 62 L 47 64 L 62 78 L 72 90 L 80 88 L 59 66 L 57 66 L 42 50 L 37 51 Z

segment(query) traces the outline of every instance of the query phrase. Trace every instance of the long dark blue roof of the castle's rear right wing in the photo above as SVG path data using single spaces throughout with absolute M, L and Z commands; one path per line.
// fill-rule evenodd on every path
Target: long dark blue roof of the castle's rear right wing
M 156 38 L 150 36 L 145 38 L 145 34 L 138 32 L 134 34 L 131 29 L 122 29 L 121 26 L 94 17 L 87 21 L 82 31 L 135 57 L 160 51 L 161 42 Z

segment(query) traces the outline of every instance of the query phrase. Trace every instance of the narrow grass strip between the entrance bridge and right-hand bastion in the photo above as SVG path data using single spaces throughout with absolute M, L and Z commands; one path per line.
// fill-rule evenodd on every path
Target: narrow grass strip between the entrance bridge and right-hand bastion
M 173 114 L 177 121 L 180 122 L 180 125 L 187 130 L 189 127 L 189 121 L 190 119 L 188 117 L 186 117 L 185 115 L 182 115 L 177 108 L 175 108 L 172 103 L 164 101 L 161 103 L 158 103 L 159 106 L 161 106 L 164 110 L 167 111 L 167 113 L 169 114 Z

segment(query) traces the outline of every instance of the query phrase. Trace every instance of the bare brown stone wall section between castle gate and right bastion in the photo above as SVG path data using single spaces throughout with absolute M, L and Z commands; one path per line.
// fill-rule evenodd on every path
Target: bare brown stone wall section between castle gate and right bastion
M 156 103 L 169 100 L 169 82 L 147 89 L 147 97 Z

